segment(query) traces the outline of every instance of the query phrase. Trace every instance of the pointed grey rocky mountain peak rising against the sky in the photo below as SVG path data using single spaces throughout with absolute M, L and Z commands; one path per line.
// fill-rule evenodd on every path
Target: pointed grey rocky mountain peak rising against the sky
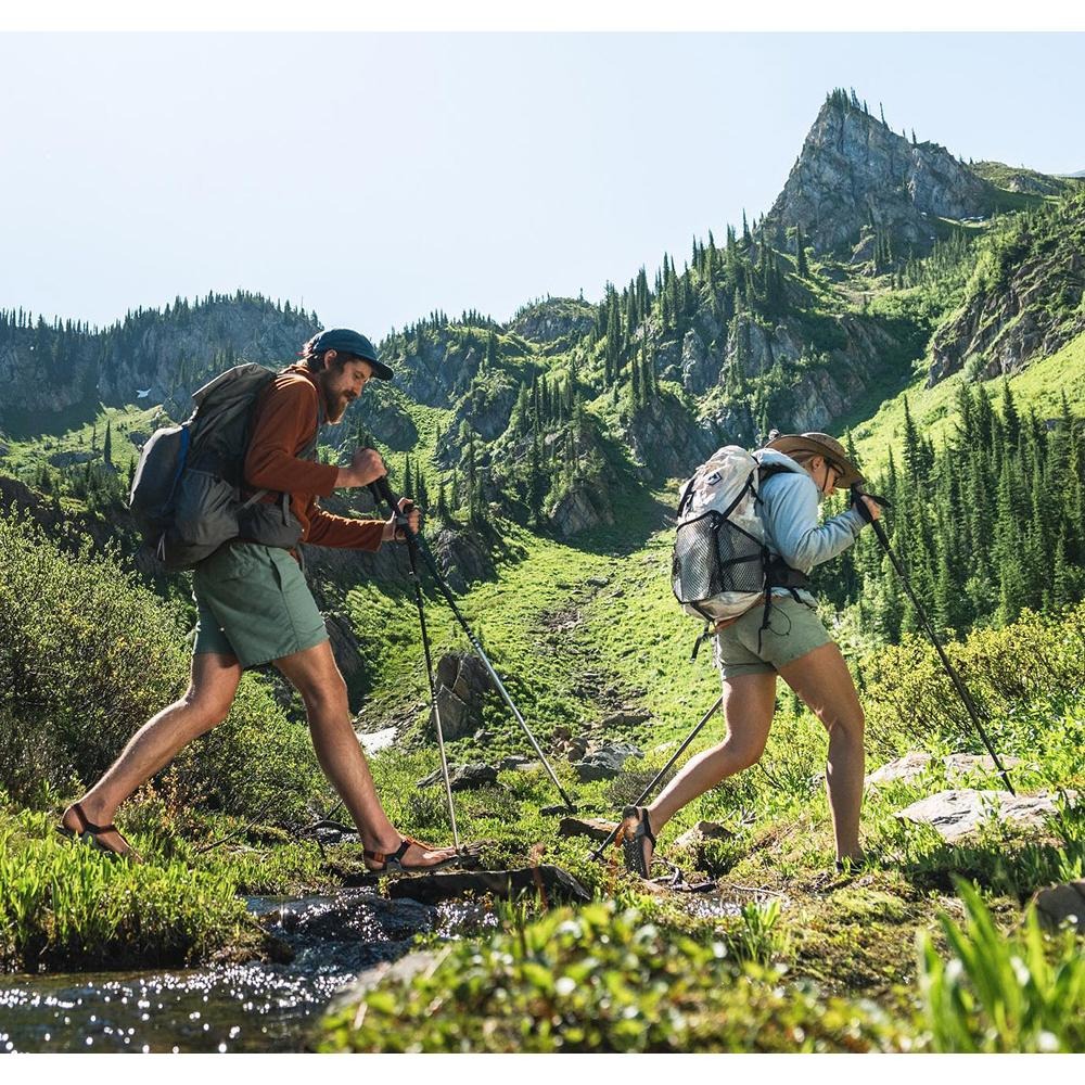
M 800 225 L 819 253 L 847 252 L 864 228 L 886 233 L 902 255 L 928 250 L 937 218 L 990 213 L 992 189 L 944 146 L 894 132 L 848 99 L 829 95 L 764 227 Z

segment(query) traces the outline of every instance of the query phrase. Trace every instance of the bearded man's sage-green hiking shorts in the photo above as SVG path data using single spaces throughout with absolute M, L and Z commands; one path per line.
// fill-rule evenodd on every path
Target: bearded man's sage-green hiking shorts
M 220 547 L 195 566 L 192 588 L 194 655 L 235 655 L 247 669 L 328 639 L 301 566 L 278 547 Z

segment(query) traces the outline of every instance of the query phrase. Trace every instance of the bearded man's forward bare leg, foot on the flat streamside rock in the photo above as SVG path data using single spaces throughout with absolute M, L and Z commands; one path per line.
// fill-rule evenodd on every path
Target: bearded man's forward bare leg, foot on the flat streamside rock
M 369 764 L 350 723 L 346 684 L 331 644 L 326 640 L 286 655 L 276 660 L 276 666 L 302 694 L 317 761 L 350 812 L 363 846 L 371 852 L 395 852 L 403 833 L 388 820 L 376 796 Z M 424 867 L 454 854 L 450 847 L 429 851 L 412 844 L 404 863 Z

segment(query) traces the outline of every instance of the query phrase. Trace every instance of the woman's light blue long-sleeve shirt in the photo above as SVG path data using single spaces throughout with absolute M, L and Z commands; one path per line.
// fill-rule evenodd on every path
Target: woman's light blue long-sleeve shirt
M 815 565 L 843 553 L 856 539 L 866 521 L 856 509 L 847 509 L 824 524 L 818 523 L 821 493 L 814 480 L 789 456 L 766 449 L 758 457 L 764 467 L 783 467 L 761 486 L 758 512 L 765 524 L 765 541 L 792 569 L 809 573 Z M 791 595 L 788 588 L 774 588 L 774 595 Z M 814 597 L 799 589 L 800 598 L 810 607 Z

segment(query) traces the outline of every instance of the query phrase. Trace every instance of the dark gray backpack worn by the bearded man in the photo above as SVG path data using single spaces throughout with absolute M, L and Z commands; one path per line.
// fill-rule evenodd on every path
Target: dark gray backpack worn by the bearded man
M 157 430 L 140 452 L 128 507 L 144 544 L 169 570 L 189 569 L 230 539 L 291 549 L 302 525 L 290 495 L 242 501 L 242 472 L 256 397 L 278 374 L 255 362 L 235 366 L 192 393 L 195 410 L 180 425 Z M 301 452 L 310 458 L 319 427 Z

